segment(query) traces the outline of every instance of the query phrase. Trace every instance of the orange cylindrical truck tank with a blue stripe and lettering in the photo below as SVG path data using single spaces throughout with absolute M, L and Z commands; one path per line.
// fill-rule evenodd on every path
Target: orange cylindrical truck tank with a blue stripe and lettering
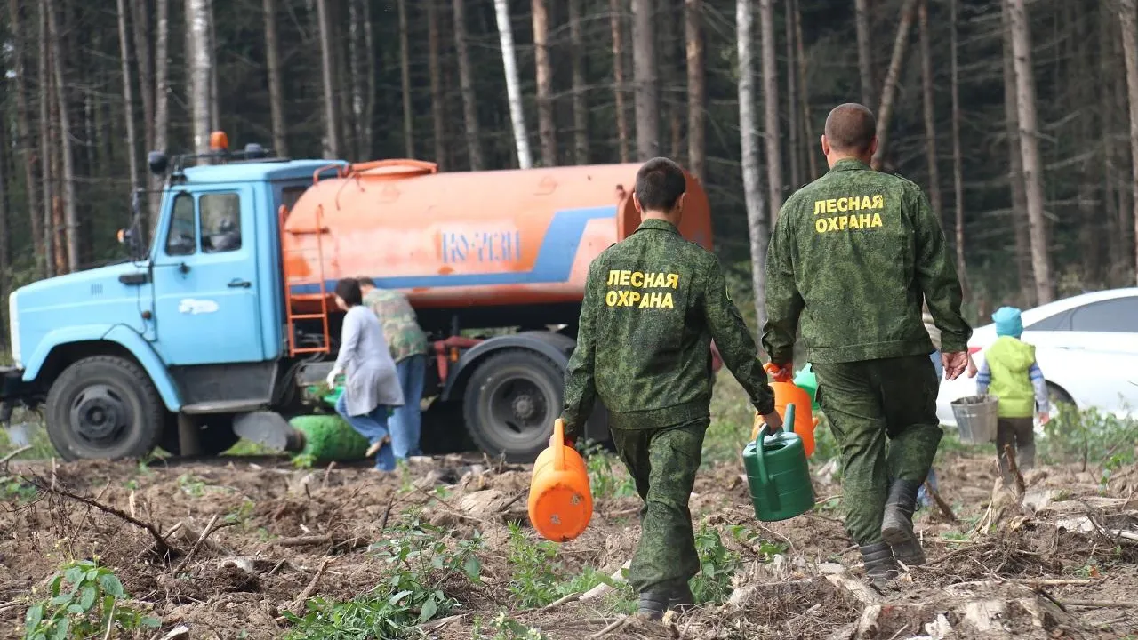
M 579 304 L 589 262 L 640 223 L 638 167 L 348 165 L 281 207 L 284 286 L 298 311 L 319 304 L 321 280 L 330 293 L 361 276 L 402 289 L 417 310 Z M 687 194 L 681 231 L 710 249 L 707 195 L 691 175 Z

